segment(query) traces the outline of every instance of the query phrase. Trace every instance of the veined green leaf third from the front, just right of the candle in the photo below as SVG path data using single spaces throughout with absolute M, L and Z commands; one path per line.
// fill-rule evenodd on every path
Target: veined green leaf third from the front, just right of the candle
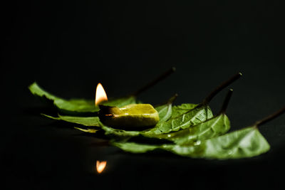
M 159 122 L 154 128 L 143 132 L 143 135 L 145 137 L 155 137 L 157 134 L 165 134 L 186 129 L 193 125 L 197 125 L 200 122 L 204 122 L 212 116 L 212 111 L 208 105 L 198 105 L 197 107 L 185 112 L 179 117 L 175 117 L 174 119 L 168 120 L 167 122 Z

